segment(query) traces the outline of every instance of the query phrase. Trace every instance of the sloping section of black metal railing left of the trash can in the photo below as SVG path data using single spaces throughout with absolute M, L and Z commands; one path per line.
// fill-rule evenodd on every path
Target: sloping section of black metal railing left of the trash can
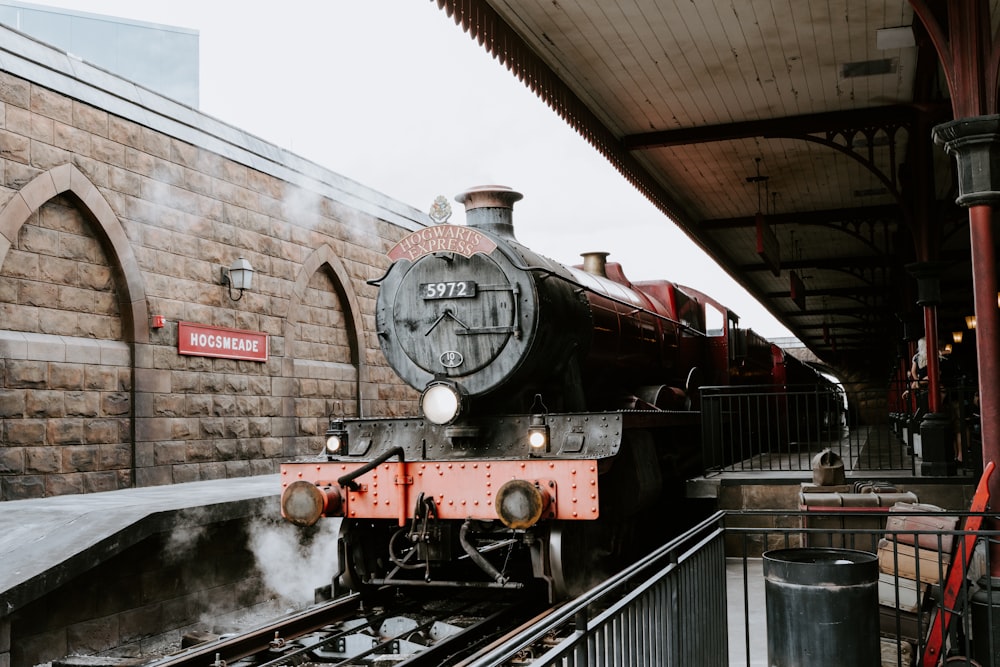
M 723 667 L 725 618 L 716 515 L 468 665 Z

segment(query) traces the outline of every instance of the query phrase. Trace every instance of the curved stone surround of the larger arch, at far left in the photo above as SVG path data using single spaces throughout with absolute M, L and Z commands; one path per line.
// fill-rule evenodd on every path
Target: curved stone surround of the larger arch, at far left
M 149 308 L 142 272 L 118 216 L 104 195 L 83 172 L 72 164 L 62 164 L 33 178 L 10 198 L 0 211 L 0 266 L 17 241 L 22 225 L 45 202 L 57 195 L 69 195 L 80 205 L 94 228 L 105 252 L 119 272 L 118 294 L 122 333 L 128 342 L 149 342 Z

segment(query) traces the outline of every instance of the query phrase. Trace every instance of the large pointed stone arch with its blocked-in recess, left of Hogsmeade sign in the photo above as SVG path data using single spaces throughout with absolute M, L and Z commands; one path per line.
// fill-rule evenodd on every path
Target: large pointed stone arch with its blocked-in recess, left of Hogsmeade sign
M 57 201 L 60 198 L 63 201 Z M 19 330 L 16 325 L 6 329 L 0 323 L 0 345 L 9 357 L 8 373 L 0 385 L 9 399 L 2 426 L 10 436 L 0 448 L 4 459 L 0 468 L 7 473 L 0 499 L 135 485 L 135 370 L 137 359 L 150 356 L 139 351 L 148 345 L 149 322 L 142 273 L 118 216 L 72 164 L 42 172 L 0 207 L 0 267 L 12 258 L 12 249 L 30 231 L 26 227 L 33 218 L 41 220 L 52 203 L 72 209 L 75 222 L 82 223 L 91 242 L 100 247 L 105 273 L 89 274 L 80 288 L 105 291 L 95 284 L 107 281 L 107 291 L 113 293 L 117 306 L 107 312 L 113 312 L 117 323 L 111 335 L 99 333 L 102 326 L 94 318 L 90 331 L 70 335 L 61 333 L 69 328 L 65 323 L 51 333 L 42 328 Z M 56 256 L 71 258 L 72 253 Z M 19 261 L 16 255 L 13 261 Z M 17 271 L 17 267 L 12 269 Z M 65 279 L 60 277 L 53 284 L 62 285 L 58 289 L 77 287 Z M 24 302 L 15 298 L 14 303 L 21 306 L 12 312 L 38 305 L 45 296 L 39 290 L 29 293 Z M 80 312 L 85 315 L 101 312 L 99 299 L 93 304 L 96 310 L 82 305 Z

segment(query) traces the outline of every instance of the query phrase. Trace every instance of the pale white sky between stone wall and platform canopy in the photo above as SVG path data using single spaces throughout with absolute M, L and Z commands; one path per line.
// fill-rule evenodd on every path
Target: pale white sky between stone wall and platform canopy
M 691 285 L 791 335 L 431 0 L 31 0 L 200 33 L 201 110 L 421 210 L 483 184 L 524 194 L 518 240 L 632 280 Z

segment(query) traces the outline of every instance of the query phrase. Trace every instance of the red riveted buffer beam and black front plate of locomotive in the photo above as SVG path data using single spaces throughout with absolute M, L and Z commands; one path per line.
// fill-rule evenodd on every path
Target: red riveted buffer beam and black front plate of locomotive
M 549 434 L 541 448 L 529 441 L 539 415 L 444 426 L 422 419 L 338 420 L 342 454 L 282 464 L 282 513 L 300 525 L 321 516 L 403 525 L 423 494 L 442 520 L 501 519 L 524 528 L 526 521 L 598 518 L 598 476 L 621 449 L 628 430 L 623 413 L 541 417 Z M 498 496 L 515 509 L 504 514 Z M 519 516 L 523 505 L 530 506 L 523 510 L 527 519 Z

